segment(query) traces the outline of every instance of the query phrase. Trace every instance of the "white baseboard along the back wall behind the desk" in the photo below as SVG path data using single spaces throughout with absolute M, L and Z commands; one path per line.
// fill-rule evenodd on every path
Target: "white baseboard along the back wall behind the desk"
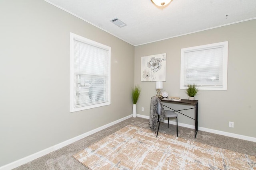
M 145 118 L 145 119 L 149 119 L 149 116 L 140 115 L 140 114 L 137 114 L 137 116 L 138 116 L 138 117 Z M 168 123 L 168 121 L 165 120 L 164 123 Z M 176 125 L 176 121 L 169 121 L 169 124 Z M 188 125 L 188 124 L 185 124 L 185 123 L 178 123 L 178 125 L 179 125 L 179 126 L 182 126 L 182 127 L 188 127 L 188 128 L 190 128 L 190 129 L 194 129 L 194 128 L 195 128 L 194 125 Z M 255 137 L 249 137 L 249 136 L 244 136 L 244 135 L 238 135 L 238 134 L 235 134 L 235 133 L 229 133 L 229 132 L 224 132 L 224 131 L 218 131 L 218 130 L 215 130 L 215 129 L 208 129 L 208 128 L 199 127 L 199 126 L 198 126 L 198 130 L 199 130 L 199 131 L 210 132 L 210 133 L 215 133 L 215 134 L 218 134 L 218 135 L 224 135 L 224 136 L 227 136 L 227 137 L 234 137 L 234 138 L 237 138 L 237 139 L 243 139 L 243 140 L 246 140 L 246 141 L 256 142 L 256 138 L 255 138 Z

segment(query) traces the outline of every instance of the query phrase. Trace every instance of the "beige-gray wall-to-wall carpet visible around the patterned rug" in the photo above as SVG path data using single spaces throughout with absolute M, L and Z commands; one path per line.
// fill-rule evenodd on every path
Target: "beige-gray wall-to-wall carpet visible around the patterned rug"
M 88 170 L 88 168 L 75 160 L 72 155 L 80 152 L 86 147 L 89 147 L 90 145 L 100 141 L 104 137 L 107 137 L 108 135 L 122 129 L 127 125 L 134 125 L 144 127 L 145 129 L 150 129 L 148 119 L 132 117 L 85 137 L 84 139 L 76 141 L 66 147 L 46 154 L 36 160 L 14 168 L 14 170 Z M 166 123 L 161 123 L 159 131 L 176 136 L 176 125 L 170 125 L 168 129 Z M 255 142 L 226 137 L 204 131 L 198 131 L 196 139 L 194 139 L 194 129 L 189 129 L 186 127 L 178 127 L 178 135 L 180 138 L 189 139 L 202 144 L 256 156 Z

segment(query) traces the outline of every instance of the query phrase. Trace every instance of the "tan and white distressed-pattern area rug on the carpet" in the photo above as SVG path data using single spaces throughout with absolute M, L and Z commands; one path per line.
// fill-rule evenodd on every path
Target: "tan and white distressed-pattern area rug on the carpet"
M 256 157 L 128 125 L 73 157 L 91 170 L 256 170 Z

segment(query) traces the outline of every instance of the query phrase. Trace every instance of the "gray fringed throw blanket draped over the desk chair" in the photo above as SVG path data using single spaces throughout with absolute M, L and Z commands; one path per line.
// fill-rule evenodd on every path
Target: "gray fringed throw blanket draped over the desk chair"
M 158 119 L 157 102 L 160 102 L 160 105 L 161 105 L 160 121 L 164 121 L 166 117 L 166 112 L 164 110 L 161 100 L 156 96 L 151 97 L 149 124 L 150 124 L 151 130 L 154 132 L 156 132 L 156 125 L 157 125 L 157 119 Z

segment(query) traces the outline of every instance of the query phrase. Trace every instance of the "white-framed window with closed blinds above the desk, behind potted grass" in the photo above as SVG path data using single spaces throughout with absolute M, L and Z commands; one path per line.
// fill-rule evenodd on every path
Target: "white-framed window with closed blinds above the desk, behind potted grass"
M 228 41 L 181 49 L 180 89 L 227 90 Z

